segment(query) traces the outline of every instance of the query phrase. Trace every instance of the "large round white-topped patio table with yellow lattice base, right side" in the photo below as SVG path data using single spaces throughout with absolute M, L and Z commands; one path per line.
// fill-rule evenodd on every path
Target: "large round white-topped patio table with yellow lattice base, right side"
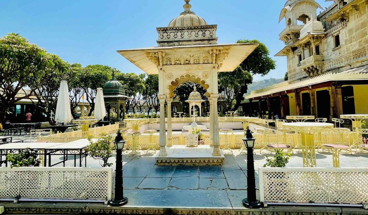
M 300 133 L 303 167 L 316 167 L 314 134 L 332 130 L 333 124 L 324 122 L 286 122 L 282 126 Z

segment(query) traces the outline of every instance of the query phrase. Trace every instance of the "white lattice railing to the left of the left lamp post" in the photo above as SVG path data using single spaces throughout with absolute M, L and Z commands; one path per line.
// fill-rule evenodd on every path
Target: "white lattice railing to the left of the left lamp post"
M 0 200 L 107 202 L 112 173 L 111 167 L 2 167 Z

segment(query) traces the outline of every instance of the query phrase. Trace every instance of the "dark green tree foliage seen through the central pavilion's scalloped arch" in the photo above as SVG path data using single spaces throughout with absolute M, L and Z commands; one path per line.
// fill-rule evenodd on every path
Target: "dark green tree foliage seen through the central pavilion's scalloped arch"
M 179 104 L 181 107 L 183 107 L 183 110 L 186 110 L 184 112 L 190 113 L 191 111 L 188 109 L 191 107 L 189 103 L 187 103 L 185 100 L 188 100 L 190 93 L 194 90 L 194 85 L 197 88 L 198 93 L 201 94 L 201 97 L 203 100 L 205 100 L 204 105 L 205 107 L 209 105 L 208 97 L 205 95 L 207 92 L 206 89 L 204 89 L 199 83 L 195 82 L 186 82 L 184 84 L 180 84 L 178 87 L 175 88 L 173 93 L 175 96 L 173 99 L 179 99 Z

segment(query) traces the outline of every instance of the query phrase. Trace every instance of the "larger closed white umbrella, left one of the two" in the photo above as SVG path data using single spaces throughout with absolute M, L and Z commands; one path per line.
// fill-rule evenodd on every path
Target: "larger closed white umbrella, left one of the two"
M 57 123 L 67 124 L 72 119 L 70 111 L 70 101 L 69 101 L 69 90 L 68 82 L 61 81 L 59 96 L 57 97 L 56 111 L 55 111 L 55 121 Z

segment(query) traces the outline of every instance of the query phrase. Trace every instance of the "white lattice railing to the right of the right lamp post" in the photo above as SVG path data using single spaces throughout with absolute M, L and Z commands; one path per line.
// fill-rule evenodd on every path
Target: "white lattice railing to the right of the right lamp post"
M 368 168 L 259 167 L 258 174 L 266 204 L 368 204 Z

